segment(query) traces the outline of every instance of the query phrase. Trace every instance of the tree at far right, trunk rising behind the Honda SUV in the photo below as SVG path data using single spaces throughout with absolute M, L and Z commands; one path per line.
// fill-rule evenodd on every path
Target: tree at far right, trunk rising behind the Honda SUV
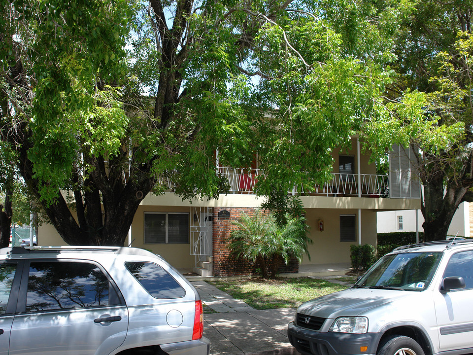
M 418 0 L 396 34 L 390 115 L 373 117 L 371 147 L 411 145 L 423 184 L 425 241 L 445 239 L 473 187 L 473 2 Z

